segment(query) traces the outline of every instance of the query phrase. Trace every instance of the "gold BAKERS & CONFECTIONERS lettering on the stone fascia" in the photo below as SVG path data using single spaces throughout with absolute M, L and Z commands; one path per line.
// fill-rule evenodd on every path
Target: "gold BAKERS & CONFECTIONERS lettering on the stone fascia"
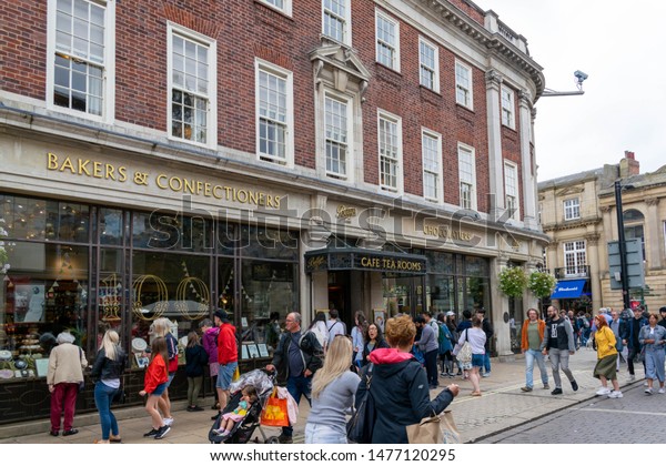
M 131 178 L 130 170 L 124 165 L 98 162 L 89 159 L 60 156 L 52 152 L 47 154 L 47 170 L 68 173 L 78 176 L 88 176 L 110 182 L 124 183 L 129 180 L 134 184 L 150 186 L 149 173 L 135 171 Z M 202 197 L 212 197 L 220 201 L 238 202 L 268 209 L 280 209 L 281 196 L 245 188 L 233 188 L 211 183 L 198 179 L 176 175 L 158 174 L 154 185 L 160 190 L 172 191 L 181 194 L 192 194 Z

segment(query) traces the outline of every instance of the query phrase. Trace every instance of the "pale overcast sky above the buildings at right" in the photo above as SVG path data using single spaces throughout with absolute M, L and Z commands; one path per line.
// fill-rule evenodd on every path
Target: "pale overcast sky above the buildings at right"
M 474 0 L 527 39 L 546 88 L 584 95 L 536 103 L 538 181 L 617 163 L 633 151 L 640 172 L 666 164 L 666 2 Z

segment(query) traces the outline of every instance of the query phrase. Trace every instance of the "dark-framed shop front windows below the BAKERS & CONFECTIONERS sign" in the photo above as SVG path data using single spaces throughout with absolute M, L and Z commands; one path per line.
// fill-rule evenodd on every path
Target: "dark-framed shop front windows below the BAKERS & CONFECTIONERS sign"
M 91 361 L 105 330 L 132 353 L 128 403 L 141 403 L 141 351 L 158 317 L 172 322 L 181 366 L 188 334 L 214 308 L 233 316 L 241 367 L 264 365 L 271 313 L 299 307 L 299 235 L 279 229 L 0 194 L 1 422 L 49 412 L 46 371 L 54 337 L 70 332 Z M 19 369 L 19 367 L 23 367 Z M 173 396 L 186 391 L 182 369 Z M 209 393 L 211 389 L 209 388 Z M 92 384 L 79 408 L 93 408 Z

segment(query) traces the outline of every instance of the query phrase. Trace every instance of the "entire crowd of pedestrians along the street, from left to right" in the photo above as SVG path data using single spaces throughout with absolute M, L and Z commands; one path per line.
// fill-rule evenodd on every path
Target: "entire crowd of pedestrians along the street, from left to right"
M 546 356 L 553 377 L 553 395 L 563 394 L 561 372 L 576 392 L 578 384 L 568 367 L 569 356 L 587 338 L 597 352 L 594 377 L 601 382 L 599 396 L 622 398 L 617 374 L 620 363 L 627 365 L 630 379 L 636 377 L 636 366 L 645 372 L 645 394 L 665 393 L 664 362 L 666 352 L 666 307 L 659 314 L 648 314 L 638 307 L 626 318 L 613 310 L 601 310 L 588 325 L 576 322 L 578 317 L 555 306 L 547 308 L 546 320 L 535 308 L 529 308 L 521 332 L 521 348 L 525 355 L 525 385 L 532 392 L 534 365 L 539 369 L 543 389 L 551 389 Z M 302 326 L 297 312 L 289 313 L 284 326 L 280 317 L 271 316 L 268 327 L 273 357 L 265 366 L 269 373 L 280 372 L 286 381 L 286 392 L 296 406 L 304 397 L 311 405 L 305 427 L 306 443 L 346 443 L 346 423 L 357 401 L 372 395 L 375 404 L 372 443 L 406 443 L 406 426 L 423 417 L 438 414 L 448 406 L 460 388 L 448 384 L 438 391 L 441 378 L 455 376 L 468 379 L 471 396 L 482 395 L 482 379 L 491 375 L 490 342 L 493 326 L 483 310 L 463 312 L 460 323 L 455 314 L 433 315 L 425 312 L 415 317 L 401 315 L 386 320 L 384 325 L 369 321 L 363 312 L 354 314 L 354 325 L 347 327 L 336 312 L 329 316 L 319 313 L 312 324 Z M 327 317 L 327 318 L 326 318 Z M 584 330 L 589 328 L 585 335 Z M 164 438 L 173 424 L 169 385 L 178 368 L 178 341 L 170 332 L 170 322 L 155 320 L 150 363 L 145 369 L 145 411 L 151 429 L 145 437 Z M 83 371 L 88 366 L 85 354 L 74 344 L 69 333 L 57 337 L 51 352 L 47 382 L 51 392 L 51 435 L 74 435 L 74 405 Z M 213 321 L 204 318 L 199 332 L 188 335 L 185 375 L 188 377 L 188 411 L 202 411 L 198 405 L 204 374 L 215 384 L 212 419 L 220 418 L 222 435 L 229 435 L 235 423 L 246 415 L 242 404 L 225 412 L 230 387 L 238 373 L 239 341 L 236 328 L 224 311 L 216 311 Z M 119 334 L 108 330 L 101 338 L 91 365 L 94 381 L 94 402 L 98 407 L 101 438 L 98 444 L 119 443 L 119 424 L 112 413 L 112 403 L 122 392 L 121 379 L 128 366 L 128 355 L 122 350 Z M 456 372 L 457 369 L 457 372 Z M 238 375 L 238 374 L 236 374 Z M 370 383 L 372 381 L 372 383 Z M 438 391 L 431 399 L 431 391 Z M 256 402 L 255 393 L 243 392 L 248 403 Z M 248 398 L 248 399 L 245 399 Z M 356 406 L 357 407 L 357 406 Z M 293 427 L 282 428 L 280 443 L 293 442 Z

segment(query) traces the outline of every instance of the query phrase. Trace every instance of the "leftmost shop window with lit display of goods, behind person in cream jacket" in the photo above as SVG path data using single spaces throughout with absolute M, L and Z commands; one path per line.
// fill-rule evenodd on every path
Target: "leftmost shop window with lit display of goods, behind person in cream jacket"
M 88 343 L 88 249 L 3 242 L 10 265 L 0 288 L 2 378 L 40 375 L 63 331 Z

